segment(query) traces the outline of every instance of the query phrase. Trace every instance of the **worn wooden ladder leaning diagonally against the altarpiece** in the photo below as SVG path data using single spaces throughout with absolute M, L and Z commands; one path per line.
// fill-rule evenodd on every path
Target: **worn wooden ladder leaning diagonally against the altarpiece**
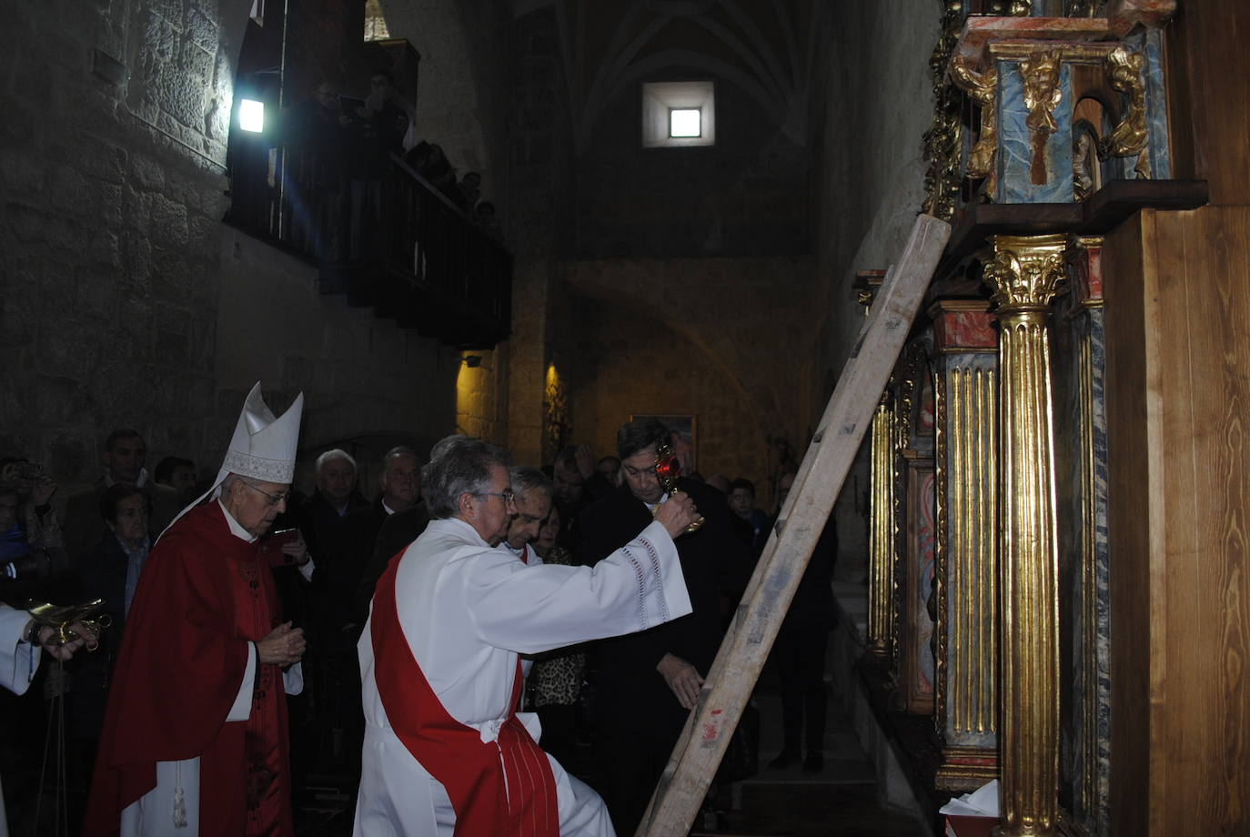
M 919 216 L 901 260 L 886 274 L 716 653 L 699 705 L 660 776 L 639 837 L 680 837 L 690 831 L 949 237 L 948 224 Z

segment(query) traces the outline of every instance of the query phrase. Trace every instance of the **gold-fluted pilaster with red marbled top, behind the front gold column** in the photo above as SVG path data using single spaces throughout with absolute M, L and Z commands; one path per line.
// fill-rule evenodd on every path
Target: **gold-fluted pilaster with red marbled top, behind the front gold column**
M 999 776 L 998 351 L 990 305 L 940 300 L 934 321 L 938 787 Z

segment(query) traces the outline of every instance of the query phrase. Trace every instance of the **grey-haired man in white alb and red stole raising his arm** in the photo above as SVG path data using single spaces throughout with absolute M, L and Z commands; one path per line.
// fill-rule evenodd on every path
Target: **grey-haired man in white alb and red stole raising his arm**
M 508 453 L 444 440 L 422 471 L 431 520 L 378 583 L 361 636 L 365 747 L 358 837 L 612 835 L 599 796 L 518 713 L 519 655 L 641 631 L 690 612 L 672 538 L 688 496 L 658 506 L 595 567 L 528 566 L 501 547 L 518 513 Z

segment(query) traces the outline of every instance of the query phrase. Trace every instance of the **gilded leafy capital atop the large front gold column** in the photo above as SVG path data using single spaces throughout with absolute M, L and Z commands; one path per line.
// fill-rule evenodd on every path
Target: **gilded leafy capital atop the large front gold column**
M 985 264 L 985 281 L 994 290 L 998 314 L 1044 310 L 1068 274 L 1062 235 L 991 236 L 994 259 Z

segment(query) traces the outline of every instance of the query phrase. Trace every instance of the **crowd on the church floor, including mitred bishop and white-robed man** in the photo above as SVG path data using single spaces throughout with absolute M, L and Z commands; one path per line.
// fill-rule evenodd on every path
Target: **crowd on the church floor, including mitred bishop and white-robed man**
M 754 485 L 670 491 L 672 433 L 645 420 L 541 468 L 464 436 L 399 446 L 372 487 L 332 448 L 301 495 L 300 411 L 258 385 L 200 483 L 186 458 L 150 476 L 116 430 L 64 517 L 36 465 L 0 463 L 0 592 L 111 620 L 52 695 L 84 833 L 290 835 L 326 772 L 359 777 L 358 835 L 634 833 L 772 528 Z M 778 768 L 822 767 L 831 536 L 774 653 Z

